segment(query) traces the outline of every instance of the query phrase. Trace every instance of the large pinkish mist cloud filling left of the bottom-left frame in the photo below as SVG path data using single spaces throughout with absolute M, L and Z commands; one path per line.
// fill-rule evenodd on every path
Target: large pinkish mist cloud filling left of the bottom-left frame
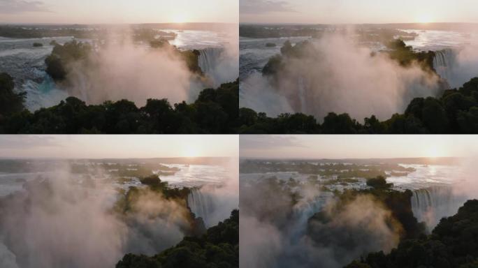
M 126 253 L 153 255 L 193 231 L 185 200 L 138 188 L 124 213 L 109 183 L 55 170 L 0 199 L 1 267 L 114 267 Z

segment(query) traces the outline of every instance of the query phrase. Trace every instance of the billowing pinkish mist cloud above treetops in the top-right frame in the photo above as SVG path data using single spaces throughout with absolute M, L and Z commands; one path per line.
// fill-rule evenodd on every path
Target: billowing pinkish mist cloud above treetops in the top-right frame
M 276 82 L 259 73 L 242 82 L 241 107 L 270 116 L 303 112 L 322 119 L 328 112 L 347 112 L 359 120 L 372 114 L 388 119 L 413 98 L 441 90 L 437 75 L 418 64 L 404 68 L 384 54 L 372 57 L 370 49 L 345 36 L 328 34 L 313 46 L 305 57 L 290 58 Z

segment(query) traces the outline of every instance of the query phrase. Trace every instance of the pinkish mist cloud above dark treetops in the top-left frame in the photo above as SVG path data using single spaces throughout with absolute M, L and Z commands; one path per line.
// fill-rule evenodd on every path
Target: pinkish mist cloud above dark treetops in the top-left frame
M 178 103 L 191 101 L 189 96 L 202 89 L 172 49 L 152 50 L 131 42 L 107 45 L 69 68 L 68 92 L 92 104 L 128 99 L 145 105 L 147 98 Z

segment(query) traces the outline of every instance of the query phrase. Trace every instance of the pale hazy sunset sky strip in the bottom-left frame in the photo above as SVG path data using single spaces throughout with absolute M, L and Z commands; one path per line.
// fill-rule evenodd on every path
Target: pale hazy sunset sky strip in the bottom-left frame
M 237 135 L 0 135 L 0 158 L 237 158 L 238 147 Z

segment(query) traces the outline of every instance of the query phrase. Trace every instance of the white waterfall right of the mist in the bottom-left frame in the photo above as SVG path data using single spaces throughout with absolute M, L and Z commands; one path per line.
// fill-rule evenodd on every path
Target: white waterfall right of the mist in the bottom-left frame
M 215 211 L 215 202 L 212 195 L 209 193 L 203 193 L 200 188 L 194 188 L 187 197 L 187 206 L 196 217 L 203 218 L 206 227 L 211 226 L 211 216 Z

